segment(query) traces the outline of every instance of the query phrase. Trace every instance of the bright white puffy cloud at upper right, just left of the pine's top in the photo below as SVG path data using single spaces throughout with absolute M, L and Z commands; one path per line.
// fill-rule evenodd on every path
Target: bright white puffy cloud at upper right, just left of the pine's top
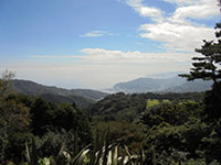
M 144 24 L 140 26 L 141 37 L 160 41 L 170 51 L 193 52 L 200 47 L 202 40 L 212 40 L 214 30 L 204 26 L 179 23 Z

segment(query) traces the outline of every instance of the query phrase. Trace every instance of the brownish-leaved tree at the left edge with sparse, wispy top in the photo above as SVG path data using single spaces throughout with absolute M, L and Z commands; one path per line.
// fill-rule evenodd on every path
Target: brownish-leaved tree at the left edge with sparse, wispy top
M 24 142 L 31 138 L 29 107 L 8 95 L 13 77 L 10 70 L 0 77 L 0 164 L 3 160 L 19 163 Z

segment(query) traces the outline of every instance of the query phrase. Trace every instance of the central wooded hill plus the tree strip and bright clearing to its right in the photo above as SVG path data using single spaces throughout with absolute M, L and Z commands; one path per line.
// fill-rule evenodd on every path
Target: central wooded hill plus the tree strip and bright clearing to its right
M 96 102 L 91 109 L 95 120 L 135 122 L 146 107 L 172 100 L 200 101 L 203 94 L 134 94 L 123 92 L 109 95 Z M 148 101 L 147 101 L 148 100 Z M 150 101 L 151 100 L 151 101 Z M 150 105 L 149 105 L 149 103 Z M 154 103 L 154 105 L 152 105 Z

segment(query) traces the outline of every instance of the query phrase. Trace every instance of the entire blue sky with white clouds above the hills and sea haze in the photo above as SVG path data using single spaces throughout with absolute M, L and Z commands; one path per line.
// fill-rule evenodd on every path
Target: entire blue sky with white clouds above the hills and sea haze
M 63 88 L 188 73 L 217 0 L 0 0 L 0 70 Z

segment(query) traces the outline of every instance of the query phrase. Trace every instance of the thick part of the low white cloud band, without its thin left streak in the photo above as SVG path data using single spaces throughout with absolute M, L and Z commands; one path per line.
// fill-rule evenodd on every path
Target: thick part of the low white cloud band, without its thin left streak
M 141 52 L 123 52 L 109 51 L 103 48 L 84 48 L 81 51 L 85 54 L 83 59 L 105 64 L 148 64 L 148 63 L 170 63 L 170 62 L 190 62 L 192 54 L 180 53 L 141 53 Z

